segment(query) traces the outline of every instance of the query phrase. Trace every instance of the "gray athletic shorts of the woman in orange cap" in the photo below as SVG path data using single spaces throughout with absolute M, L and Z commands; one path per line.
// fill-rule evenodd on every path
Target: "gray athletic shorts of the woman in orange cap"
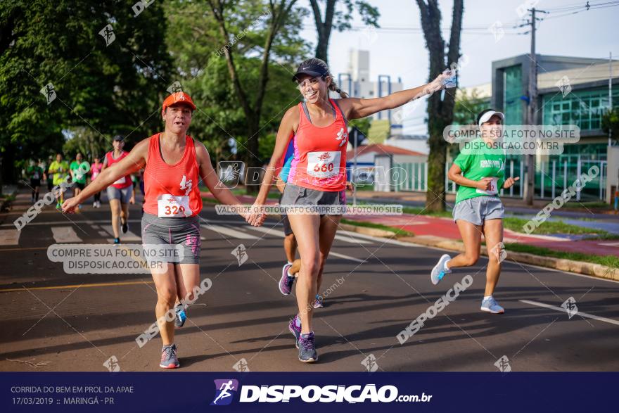
M 181 259 L 178 264 L 200 263 L 200 222 L 198 215 L 194 217 L 160 218 L 157 215 L 144 212 L 142 215 L 143 245 L 182 246 Z

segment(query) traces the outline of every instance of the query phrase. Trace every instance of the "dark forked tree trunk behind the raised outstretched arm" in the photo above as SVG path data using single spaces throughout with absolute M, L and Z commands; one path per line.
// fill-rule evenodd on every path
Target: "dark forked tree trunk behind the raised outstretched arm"
M 445 41 L 440 29 L 440 8 L 438 0 L 416 0 L 421 11 L 421 28 L 430 54 L 428 81 L 433 80 L 449 65 L 457 64 L 460 58 L 460 32 L 462 28 L 463 0 L 454 0 L 452 29 L 449 34 L 447 55 Z M 426 209 L 445 210 L 445 161 L 447 141 L 442 132 L 454 119 L 455 89 L 446 89 L 444 94 L 435 93 L 428 97 L 428 191 Z

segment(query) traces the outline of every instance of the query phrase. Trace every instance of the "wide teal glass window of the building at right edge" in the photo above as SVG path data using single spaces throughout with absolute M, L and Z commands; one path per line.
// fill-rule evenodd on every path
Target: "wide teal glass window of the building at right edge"
M 608 88 L 561 92 L 543 96 L 544 125 L 578 125 L 583 130 L 601 128 L 608 110 Z M 613 107 L 619 108 L 619 90 L 613 89 Z

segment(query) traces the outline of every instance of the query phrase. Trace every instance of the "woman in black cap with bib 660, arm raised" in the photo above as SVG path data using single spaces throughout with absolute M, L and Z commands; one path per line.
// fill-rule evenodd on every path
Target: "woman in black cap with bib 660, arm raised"
M 303 61 L 293 76 L 305 102 L 288 109 L 283 115 L 273 155 L 254 205 L 259 209 L 267 201 L 274 172 L 281 167 L 283 153 L 288 142 L 294 138 L 295 154 L 281 205 L 300 205 L 312 209 L 323 207 L 325 211 L 288 215 L 301 257 L 296 286 L 298 314 L 293 317 L 288 329 L 295 336 L 301 362 L 318 360 L 312 314 L 324 262 L 342 217 L 341 209 L 338 211 L 337 207 L 346 203 L 347 120 L 398 108 L 443 89 L 447 79 L 449 75 L 442 74 L 422 87 L 376 99 L 357 99 L 348 98 L 338 89 L 326 63 L 320 59 Z M 336 91 L 343 99 L 329 99 L 329 91 Z M 336 210 L 335 214 L 331 212 L 333 210 Z M 262 216 L 257 213 L 250 217 L 250 222 L 260 220 Z

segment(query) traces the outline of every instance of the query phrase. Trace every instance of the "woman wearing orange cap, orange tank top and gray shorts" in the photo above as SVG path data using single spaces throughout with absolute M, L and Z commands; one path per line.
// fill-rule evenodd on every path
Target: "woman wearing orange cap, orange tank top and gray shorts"
M 183 92 L 168 96 L 161 110 L 165 132 L 140 141 L 129 155 L 103 170 L 84 191 L 63 204 L 63 212 L 73 212 L 79 203 L 120 177 L 145 169 L 142 243 L 181 250 L 178 259 L 164 263 L 167 267 L 163 271 L 152 271 L 157 288 L 155 314 L 163 341 L 160 367 L 164 369 L 180 365 L 174 344 L 174 324 L 184 324 L 186 305 L 174 304 L 177 298 L 191 303 L 197 298 L 196 291 L 200 291 L 198 213 L 202 209 L 202 198 L 198 183 L 205 182 L 221 203 L 241 204 L 219 182 L 205 146 L 186 134 L 195 109 L 191 97 Z M 258 218 L 255 224 L 262 220 Z

